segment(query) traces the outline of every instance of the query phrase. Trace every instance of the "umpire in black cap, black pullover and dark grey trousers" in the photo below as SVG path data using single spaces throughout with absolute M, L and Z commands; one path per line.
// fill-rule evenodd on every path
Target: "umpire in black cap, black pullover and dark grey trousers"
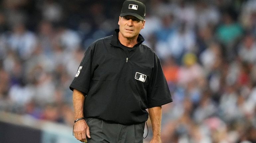
M 143 3 L 124 1 L 119 29 L 86 50 L 70 85 L 73 133 L 81 142 L 142 143 L 149 115 L 151 143 L 161 143 L 161 105 L 172 98 L 159 58 L 142 44 L 144 18 Z

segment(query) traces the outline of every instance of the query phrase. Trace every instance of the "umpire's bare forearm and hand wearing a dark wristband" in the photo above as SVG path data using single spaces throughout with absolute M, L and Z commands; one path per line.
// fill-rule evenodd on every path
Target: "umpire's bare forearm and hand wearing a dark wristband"
M 83 105 L 85 96 L 82 92 L 74 89 L 73 90 L 73 107 L 74 107 L 74 120 L 82 118 L 83 116 Z M 87 142 L 86 136 L 90 137 L 89 126 L 85 120 L 79 120 L 74 124 L 74 136 L 81 142 Z

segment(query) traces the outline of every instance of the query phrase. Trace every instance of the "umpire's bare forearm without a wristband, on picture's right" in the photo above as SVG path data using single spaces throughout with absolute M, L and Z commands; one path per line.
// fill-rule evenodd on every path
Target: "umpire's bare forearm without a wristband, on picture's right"
M 162 107 L 149 108 L 148 111 L 153 131 L 153 138 L 150 143 L 161 143 Z

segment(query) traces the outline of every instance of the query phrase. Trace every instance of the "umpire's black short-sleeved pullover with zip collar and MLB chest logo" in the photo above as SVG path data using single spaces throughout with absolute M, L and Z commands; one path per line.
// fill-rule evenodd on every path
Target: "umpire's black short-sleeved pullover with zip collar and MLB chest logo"
M 171 94 L 159 58 L 142 44 L 143 37 L 139 35 L 138 44 L 127 48 L 119 42 L 118 32 L 89 46 L 70 89 L 86 95 L 86 118 L 142 123 L 148 119 L 146 109 L 172 102 Z

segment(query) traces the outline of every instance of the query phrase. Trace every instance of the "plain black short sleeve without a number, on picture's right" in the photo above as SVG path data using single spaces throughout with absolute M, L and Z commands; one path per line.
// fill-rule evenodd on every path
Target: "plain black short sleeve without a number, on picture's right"
M 154 57 L 152 78 L 148 87 L 148 108 L 161 106 L 173 101 L 157 55 Z

